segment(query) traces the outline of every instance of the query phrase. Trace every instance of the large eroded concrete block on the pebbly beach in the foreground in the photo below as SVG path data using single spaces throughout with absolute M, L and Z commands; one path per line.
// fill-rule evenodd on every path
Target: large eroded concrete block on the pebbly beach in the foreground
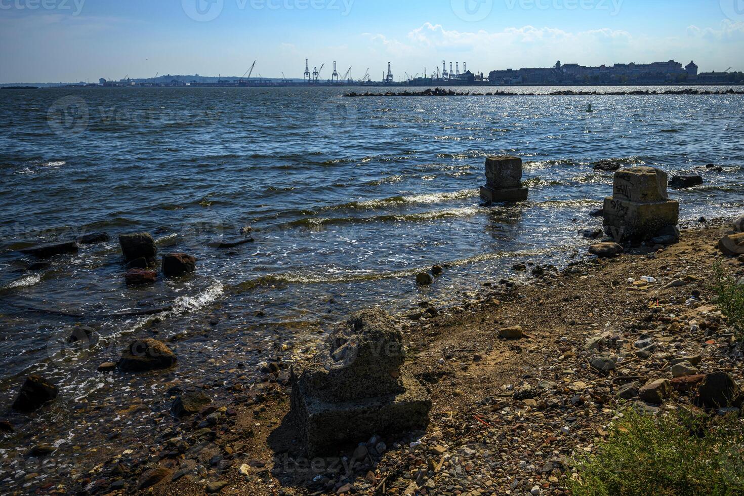
M 358 312 L 341 326 L 298 378 L 292 415 L 310 456 L 373 434 L 425 428 L 432 402 L 402 373 L 403 335 L 382 310 Z

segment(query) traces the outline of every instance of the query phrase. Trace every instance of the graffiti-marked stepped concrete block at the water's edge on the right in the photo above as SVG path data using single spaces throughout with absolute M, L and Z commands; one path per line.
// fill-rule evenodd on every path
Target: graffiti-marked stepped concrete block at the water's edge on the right
M 679 202 L 669 199 L 667 174 L 653 167 L 615 173 L 612 196 L 605 199 L 605 231 L 617 242 L 643 242 L 679 223 Z

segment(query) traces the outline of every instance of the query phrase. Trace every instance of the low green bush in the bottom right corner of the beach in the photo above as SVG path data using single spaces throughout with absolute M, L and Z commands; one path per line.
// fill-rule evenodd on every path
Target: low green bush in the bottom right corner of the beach
M 737 416 L 651 416 L 628 408 L 594 454 L 575 460 L 574 496 L 743 495 L 744 425 Z

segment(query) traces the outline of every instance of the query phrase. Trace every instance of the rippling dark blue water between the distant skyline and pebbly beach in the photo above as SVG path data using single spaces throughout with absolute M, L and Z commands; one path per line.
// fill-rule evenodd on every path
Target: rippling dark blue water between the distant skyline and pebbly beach
M 744 205 L 741 96 L 344 91 L 0 91 L 0 402 L 42 373 L 63 390 L 39 419 L 64 423 L 66 408 L 129 380 L 94 370 L 138 336 L 185 334 L 167 379 L 199 381 L 220 364 L 252 370 L 266 358 L 256 347 L 298 350 L 353 309 L 451 300 L 513 276 L 516 261 L 561 265 L 583 254 L 577 230 L 600 225 L 588 213 L 611 191 L 612 173 L 594 161 L 669 173 L 716 164 L 704 186 L 670 190 L 682 219 Z M 498 153 L 525 160 L 528 202 L 480 205 L 484 158 Z M 253 244 L 208 247 L 246 225 Z M 14 251 L 93 231 L 112 241 L 45 271 L 24 271 Z M 127 288 L 116 235 L 132 231 L 196 256 L 196 274 Z M 434 263 L 452 267 L 418 288 L 414 274 Z M 126 315 L 143 310 L 155 315 Z M 96 340 L 71 348 L 79 323 Z

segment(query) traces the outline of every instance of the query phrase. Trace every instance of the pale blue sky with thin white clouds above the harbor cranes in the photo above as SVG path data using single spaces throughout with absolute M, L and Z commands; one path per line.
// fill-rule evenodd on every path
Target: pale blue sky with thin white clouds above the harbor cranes
M 0 82 L 301 78 L 694 60 L 744 71 L 744 0 L 0 0 Z

